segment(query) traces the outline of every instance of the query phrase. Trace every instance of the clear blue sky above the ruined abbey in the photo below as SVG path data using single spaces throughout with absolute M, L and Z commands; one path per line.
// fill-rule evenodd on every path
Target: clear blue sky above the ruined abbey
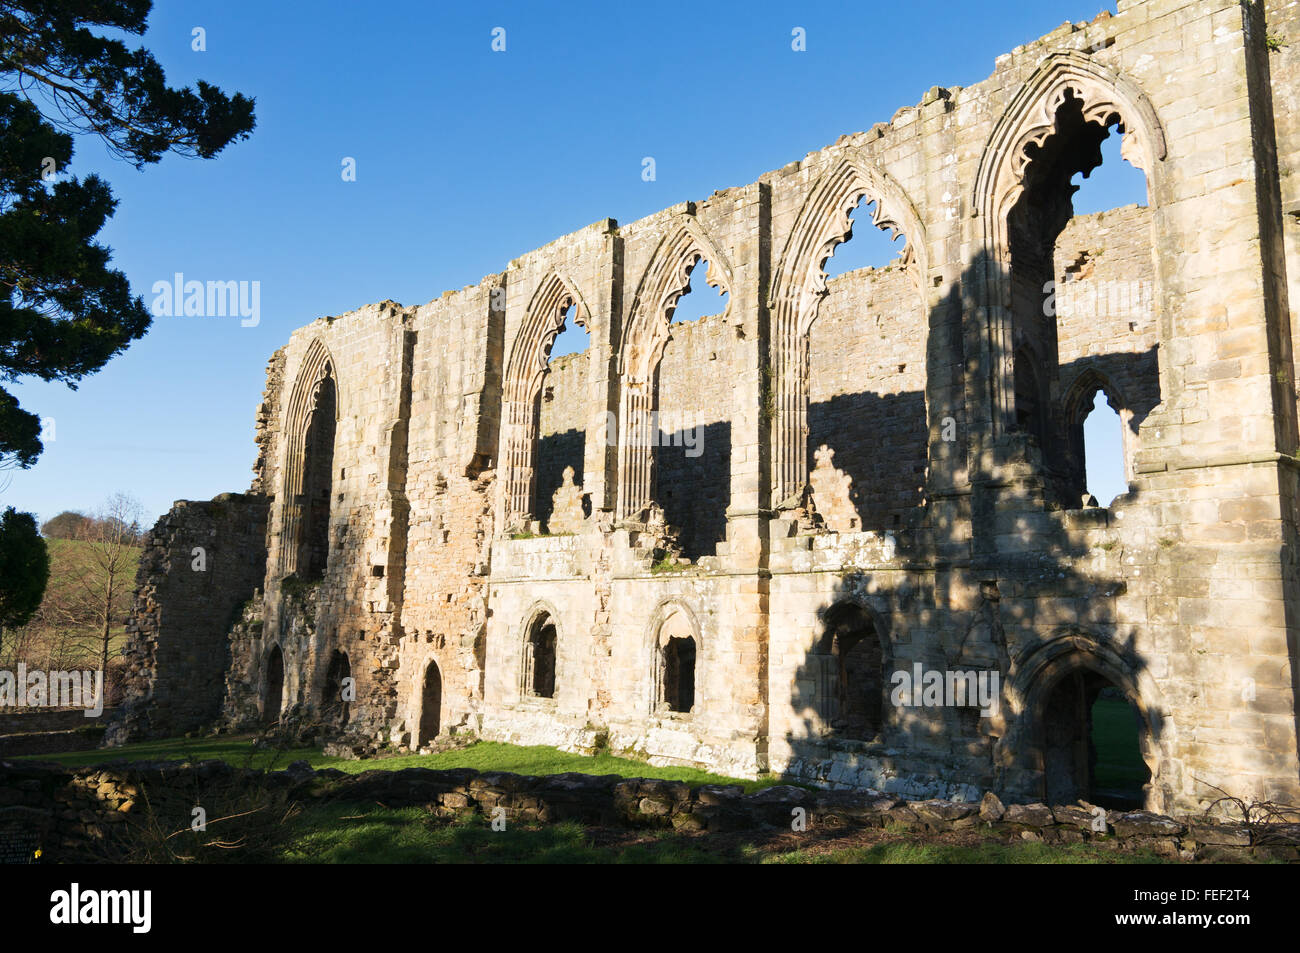
M 169 82 L 255 96 L 256 131 L 216 160 L 143 172 L 82 139 L 72 172 L 112 183 L 100 241 L 146 304 L 176 272 L 259 281 L 261 322 L 159 317 L 77 391 L 16 386 L 55 439 L 0 503 L 48 519 L 125 490 L 152 523 L 174 499 L 244 490 L 265 363 L 292 329 L 385 298 L 419 304 L 606 216 L 753 182 L 1104 7 L 157 3 L 144 44 Z M 806 52 L 790 49 L 794 27 Z M 1136 196 L 1123 177 L 1089 185 L 1096 208 Z

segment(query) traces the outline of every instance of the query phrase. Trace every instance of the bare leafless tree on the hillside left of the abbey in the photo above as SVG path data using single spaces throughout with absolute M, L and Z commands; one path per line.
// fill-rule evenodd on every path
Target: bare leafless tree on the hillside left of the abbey
M 135 575 L 136 546 L 140 542 L 140 502 L 126 493 L 114 493 L 82 527 L 86 568 L 81 573 L 83 610 L 99 636 L 100 667 L 108 672 L 108 644 L 114 623 L 121 623 Z

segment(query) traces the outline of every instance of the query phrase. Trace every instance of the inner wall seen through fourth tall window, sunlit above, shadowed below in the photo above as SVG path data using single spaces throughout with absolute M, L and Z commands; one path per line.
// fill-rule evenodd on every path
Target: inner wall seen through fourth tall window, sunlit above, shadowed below
M 809 464 L 822 445 L 833 450 L 862 528 L 890 530 L 926 482 L 926 312 L 900 265 L 827 289 L 809 334 Z

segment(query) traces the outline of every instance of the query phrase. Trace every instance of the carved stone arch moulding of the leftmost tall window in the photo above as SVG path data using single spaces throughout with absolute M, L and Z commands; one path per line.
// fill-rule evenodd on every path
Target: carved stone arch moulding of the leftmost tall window
M 299 569 L 302 534 L 308 516 L 302 498 L 308 467 L 308 430 L 320 410 L 321 399 L 326 395 L 326 387 L 332 389 L 329 397 L 333 399 L 333 419 L 329 423 L 333 428 L 341 419 L 343 404 L 338 365 L 325 342 L 313 338 L 303 352 L 285 408 L 278 576 Z M 325 519 L 328 521 L 328 516 Z

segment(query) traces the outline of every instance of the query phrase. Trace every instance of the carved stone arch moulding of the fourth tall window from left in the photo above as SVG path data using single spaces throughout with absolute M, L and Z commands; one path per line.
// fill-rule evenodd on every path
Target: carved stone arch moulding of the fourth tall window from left
M 853 235 L 850 213 L 875 203 L 872 225 L 904 237 L 904 268 L 928 308 L 926 229 L 906 192 L 871 160 L 849 153 L 812 186 L 776 265 L 772 311 L 772 503 L 798 498 L 807 482 L 809 332 L 827 294 L 826 263 Z

